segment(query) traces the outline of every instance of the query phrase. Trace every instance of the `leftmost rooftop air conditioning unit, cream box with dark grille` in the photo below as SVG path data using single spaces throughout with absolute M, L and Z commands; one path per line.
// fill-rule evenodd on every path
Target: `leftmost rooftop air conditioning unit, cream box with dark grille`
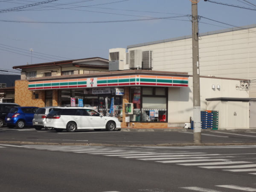
M 109 65 L 108 70 L 124 70 L 124 65 L 126 63 L 126 53 L 125 48 L 114 48 L 109 49 Z

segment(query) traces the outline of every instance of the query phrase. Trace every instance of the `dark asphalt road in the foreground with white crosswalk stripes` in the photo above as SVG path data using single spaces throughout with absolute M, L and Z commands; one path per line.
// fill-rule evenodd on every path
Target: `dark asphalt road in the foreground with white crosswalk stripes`
M 256 191 L 255 149 L 0 144 L 0 191 Z

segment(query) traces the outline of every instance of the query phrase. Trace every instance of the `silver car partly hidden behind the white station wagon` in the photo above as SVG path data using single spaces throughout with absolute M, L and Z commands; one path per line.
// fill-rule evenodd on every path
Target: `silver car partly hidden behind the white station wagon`
M 42 128 L 45 128 L 46 130 L 53 130 L 53 128 L 45 126 L 46 116 L 53 108 L 57 107 L 38 108 L 32 120 L 33 126 L 36 130 L 41 130 Z

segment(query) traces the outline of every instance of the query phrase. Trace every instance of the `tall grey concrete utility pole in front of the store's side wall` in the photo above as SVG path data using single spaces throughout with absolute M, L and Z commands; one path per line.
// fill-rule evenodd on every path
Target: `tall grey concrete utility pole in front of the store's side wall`
M 198 47 L 198 6 L 199 0 L 192 2 L 192 64 L 193 64 L 193 121 L 194 143 L 201 143 L 201 103 L 200 103 L 200 74 Z

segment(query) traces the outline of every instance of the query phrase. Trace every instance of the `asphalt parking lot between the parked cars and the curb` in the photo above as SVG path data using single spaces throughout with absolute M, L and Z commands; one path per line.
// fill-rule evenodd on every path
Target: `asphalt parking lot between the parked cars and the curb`
M 202 130 L 202 144 L 256 144 L 256 130 Z M 34 128 L 0 128 L 0 143 L 32 142 L 35 144 L 84 145 L 188 145 L 193 143 L 193 130 L 92 131 L 75 133 L 37 131 Z

